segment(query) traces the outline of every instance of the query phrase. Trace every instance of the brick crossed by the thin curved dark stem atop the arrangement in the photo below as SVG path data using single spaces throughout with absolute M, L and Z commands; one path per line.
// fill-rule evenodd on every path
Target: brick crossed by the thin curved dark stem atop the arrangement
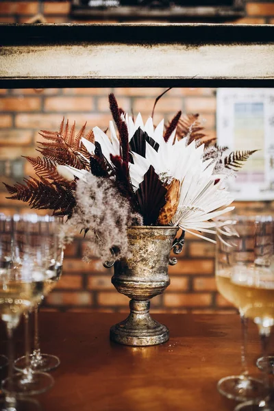
M 134 100 L 134 113 L 138 114 L 138 112 L 142 113 L 149 113 L 151 114 L 155 99 L 145 99 L 145 98 L 137 98 Z M 166 113 L 174 113 L 175 114 L 182 110 L 183 106 L 183 99 L 178 98 L 171 98 L 171 97 L 162 97 L 156 105 L 155 112 L 166 112 Z M 173 114 L 171 114 L 169 121 L 172 120 Z

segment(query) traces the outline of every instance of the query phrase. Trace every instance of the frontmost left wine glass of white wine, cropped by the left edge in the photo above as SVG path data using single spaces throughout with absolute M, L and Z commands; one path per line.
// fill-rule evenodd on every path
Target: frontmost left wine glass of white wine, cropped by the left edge
M 21 314 L 28 312 L 42 296 L 43 280 L 38 275 L 38 256 L 35 258 L 33 253 L 28 223 L 25 216 L 0 214 L 0 316 L 7 329 L 9 353 L 8 378 L 2 382 L 5 399 L 0 401 L 1 410 L 40 410 L 37 401 L 18 399 L 22 375 L 13 373 L 13 331 Z

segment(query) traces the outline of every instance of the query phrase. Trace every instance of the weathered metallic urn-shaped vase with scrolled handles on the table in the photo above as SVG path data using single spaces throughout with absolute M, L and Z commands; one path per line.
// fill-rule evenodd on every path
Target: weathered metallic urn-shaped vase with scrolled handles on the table
M 181 237 L 175 239 L 177 227 L 130 227 L 127 230 L 130 257 L 114 263 L 112 284 L 131 300 L 130 314 L 124 321 L 113 325 L 110 339 L 124 345 L 145 346 L 164 343 L 169 329 L 151 318 L 149 306 L 152 297 L 159 295 L 170 284 L 168 275 L 173 248 L 182 251 Z

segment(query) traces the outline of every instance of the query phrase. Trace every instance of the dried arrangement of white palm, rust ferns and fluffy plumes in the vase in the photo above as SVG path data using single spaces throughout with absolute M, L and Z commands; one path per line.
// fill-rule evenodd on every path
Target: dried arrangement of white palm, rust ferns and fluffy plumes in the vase
M 119 108 L 113 94 L 109 101 L 114 122 L 105 132 L 94 127 L 85 135 L 84 125 L 76 134 L 75 123 L 64 119 L 58 132 L 40 132 L 42 157 L 27 157 L 37 177 L 5 184 L 9 198 L 67 216 L 66 235 L 84 229 L 87 259 L 96 253 L 108 260 L 110 251 L 116 259 L 127 256 L 131 225 L 216 234 L 212 219 L 234 208 L 223 181 L 256 150 L 227 155 L 227 147 L 206 138 L 199 114 L 178 112 L 154 127 L 153 114 L 144 124 L 140 114 L 134 121 Z

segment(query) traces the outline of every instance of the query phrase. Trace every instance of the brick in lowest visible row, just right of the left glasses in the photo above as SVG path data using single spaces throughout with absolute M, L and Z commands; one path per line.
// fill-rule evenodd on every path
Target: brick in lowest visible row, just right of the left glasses
M 52 306 L 89 306 L 92 304 L 90 292 L 60 292 L 53 291 L 46 298 L 46 303 Z

